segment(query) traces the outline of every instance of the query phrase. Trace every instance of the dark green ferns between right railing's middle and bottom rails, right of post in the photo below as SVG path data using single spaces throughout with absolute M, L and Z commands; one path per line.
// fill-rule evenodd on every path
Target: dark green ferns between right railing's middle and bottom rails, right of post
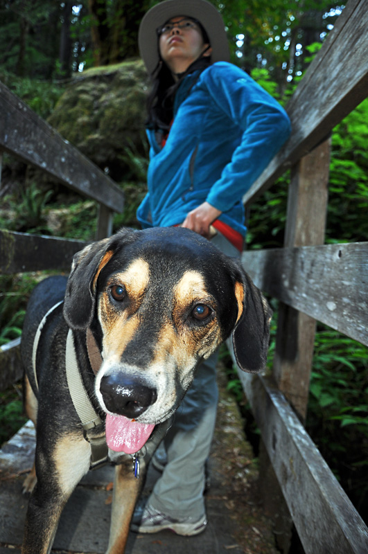
M 307 428 L 362 517 L 368 506 L 368 348 L 319 325 Z

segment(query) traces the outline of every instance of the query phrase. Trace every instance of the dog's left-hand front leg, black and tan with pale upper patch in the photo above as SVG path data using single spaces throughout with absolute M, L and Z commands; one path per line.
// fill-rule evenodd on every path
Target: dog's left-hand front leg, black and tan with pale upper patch
M 60 436 L 36 448 L 37 483 L 30 495 L 21 554 L 48 554 L 62 510 L 87 473 L 91 447 L 80 434 Z

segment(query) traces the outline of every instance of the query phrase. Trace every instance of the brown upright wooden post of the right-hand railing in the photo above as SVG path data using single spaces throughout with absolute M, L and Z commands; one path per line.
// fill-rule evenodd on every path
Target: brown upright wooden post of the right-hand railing
M 331 141 L 324 141 L 292 168 L 284 246 L 324 243 Z M 315 347 L 315 319 L 279 304 L 272 373 L 302 421 L 306 420 Z

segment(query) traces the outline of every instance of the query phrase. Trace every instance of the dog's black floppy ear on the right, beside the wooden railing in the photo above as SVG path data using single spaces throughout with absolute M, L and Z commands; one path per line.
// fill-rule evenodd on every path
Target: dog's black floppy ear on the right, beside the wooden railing
M 238 319 L 232 332 L 234 355 L 240 369 L 259 373 L 266 364 L 272 310 L 261 291 L 241 270 L 235 283 Z

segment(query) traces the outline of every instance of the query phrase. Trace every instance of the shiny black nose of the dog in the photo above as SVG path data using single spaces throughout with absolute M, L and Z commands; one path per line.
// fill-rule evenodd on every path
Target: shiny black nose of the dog
M 112 373 L 100 382 L 105 406 L 112 413 L 137 418 L 157 400 L 157 391 L 134 376 Z

